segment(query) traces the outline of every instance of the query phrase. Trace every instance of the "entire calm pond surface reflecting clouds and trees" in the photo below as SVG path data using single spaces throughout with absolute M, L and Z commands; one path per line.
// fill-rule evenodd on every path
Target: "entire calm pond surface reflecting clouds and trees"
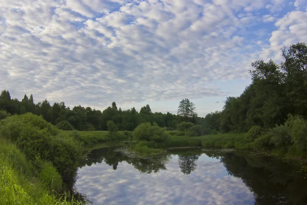
M 299 166 L 246 152 L 93 150 L 76 186 L 94 204 L 307 204 Z

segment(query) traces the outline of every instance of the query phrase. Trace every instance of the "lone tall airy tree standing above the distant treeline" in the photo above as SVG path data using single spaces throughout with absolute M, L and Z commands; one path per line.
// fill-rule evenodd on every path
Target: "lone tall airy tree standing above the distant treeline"
M 182 117 L 183 120 L 190 121 L 197 117 L 195 110 L 195 104 L 185 98 L 180 101 L 177 114 Z

